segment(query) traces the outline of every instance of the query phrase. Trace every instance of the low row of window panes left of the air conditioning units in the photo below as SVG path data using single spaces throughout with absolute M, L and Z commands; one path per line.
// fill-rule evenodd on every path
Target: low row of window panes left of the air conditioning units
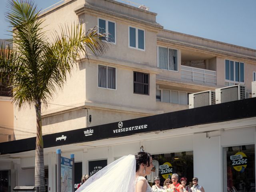
M 166 103 L 176 103 L 182 105 L 188 105 L 188 94 L 183 91 L 176 90 L 156 90 L 156 101 L 162 101 Z M 162 96 L 162 98 L 161 98 Z

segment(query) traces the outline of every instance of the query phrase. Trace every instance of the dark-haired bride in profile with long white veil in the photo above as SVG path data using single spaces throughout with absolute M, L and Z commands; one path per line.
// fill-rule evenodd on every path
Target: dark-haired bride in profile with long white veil
M 145 176 L 153 166 L 147 152 L 123 156 L 91 176 L 76 192 L 151 192 Z

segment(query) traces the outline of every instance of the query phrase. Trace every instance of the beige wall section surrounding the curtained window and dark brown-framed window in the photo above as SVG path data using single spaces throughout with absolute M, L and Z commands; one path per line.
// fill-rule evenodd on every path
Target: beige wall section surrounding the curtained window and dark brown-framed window
M 154 74 L 150 74 L 150 94 L 142 95 L 133 93 L 133 71 L 137 70 L 116 68 L 116 90 L 111 90 L 98 87 L 98 65 L 87 64 L 86 67 L 86 100 L 119 106 L 155 107 L 156 76 Z

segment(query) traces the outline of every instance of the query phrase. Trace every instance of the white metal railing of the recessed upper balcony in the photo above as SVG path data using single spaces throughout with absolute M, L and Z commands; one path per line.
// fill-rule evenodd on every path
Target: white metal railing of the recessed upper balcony
M 181 66 L 181 78 L 191 82 L 216 85 L 216 71 Z

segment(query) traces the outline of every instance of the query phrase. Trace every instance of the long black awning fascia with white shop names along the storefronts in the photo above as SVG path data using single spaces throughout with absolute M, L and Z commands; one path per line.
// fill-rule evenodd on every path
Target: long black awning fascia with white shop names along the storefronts
M 256 98 L 147 116 L 43 136 L 44 148 L 256 116 Z M 74 126 L 75 127 L 75 126 Z M 36 137 L 0 143 L 1 154 L 35 149 Z

